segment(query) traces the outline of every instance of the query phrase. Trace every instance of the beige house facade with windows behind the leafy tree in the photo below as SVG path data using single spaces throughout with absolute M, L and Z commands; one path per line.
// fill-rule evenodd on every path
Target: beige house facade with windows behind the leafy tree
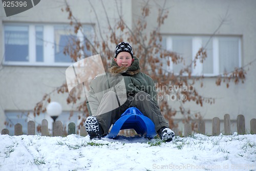
M 82 24 L 83 32 L 91 39 L 98 34 L 97 28 L 101 29 L 103 36 L 107 34 L 108 22 L 115 25 L 118 13 L 122 14 L 129 27 L 135 27 L 144 4 L 144 1 L 135 0 L 67 2 Z M 102 3 L 109 21 L 106 20 Z M 205 77 L 195 85 L 195 89 L 204 97 L 215 98 L 215 103 L 204 103 L 201 107 L 189 102 L 184 104 L 184 108 L 201 113 L 206 120 L 206 134 L 211 134 L 211 119 L 219 117 L 223 122 L 225 114 L 230 115 L 232 132 L 237 131 L 237 116 L 244 115 L 249 133 L 250 120 L 255 118 L 256 112 L 256 62 L 253 62 L 256 59 L 256 2 L 149 1 L 148 28 L 156 25 L 158 7 L 164 3 L 169 13 L 160 31 L 163 47 L 181 54 L 187 63 L 193 60 L 202 46 L 207 49 L 208 57 L 204 64 L 198 63 L 191 70 L 193 76 L 203 74 Z M 63 47 L 68 44 L 70 36 L 79 37 L 81 33 L 74 34 L 65 8 L 64 0 L 44 0 L 27 11 L 6 17 L 4 7 L 0 5 L 0 130 L 8 128 L 13 134 L 13 125 L 22 123 L 26 133 L 29 120 L 35 120 L 36 124 L 40 124 L 42 119 L 52 122 L 47 114 L 34 117 L 33 110 L 45 93 L 66 82 L 65 71 L 72 64 L 72 60 L 63 55 Z M 229 88 L 225 83 L 216 85 L 217 76 L 243 66 L 246 66 L 247 73 L 244 83 L 231 82 Z M 175 73 L 181 67 L 171 63 L 165 69 Z M 67 105 L 67 94 L 54 92 L 51 97 L 51 101 L 57 101 L 62 106 L 59 120 L 65 124 L 71 121 L 79 123 L 77 116 L 81 113 L 75 111 L 69 117 L 70 110 L 75 106 Z M 169 104 L 178 110 L 179 101 L 170 100 Z M 179 113 L 175 116 L 181 131 L 182 118 Z

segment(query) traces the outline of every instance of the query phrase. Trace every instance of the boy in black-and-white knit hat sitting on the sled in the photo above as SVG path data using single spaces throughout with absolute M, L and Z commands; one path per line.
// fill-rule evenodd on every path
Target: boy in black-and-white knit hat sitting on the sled
M 118 77 L 113 79 L 108 74 L 112 76 L 121 74 L 126 91 L 123 102 L 124 98 L 118 98 L 116 90 L 99 95 L 98 92 L 108 89 L 106 87 L 110 87 L 110 84 L 118 80 Z M 168 123 L 160 113 L 157 92 L 154 89 L 155 83 L 150 76 L 140 72 L 139 59 L 133 55 L 129 43 L 120 42 L 116 46 L 115 57 L 112 59 L 108 74 L 106 74 L 107 81 L 103 81 L 104 77 L 99 76 L 92 81 L 90 86 L 88 110 L 90 115 L 93 111 L 94 116 L 89 116 L 85 122 L 90 139 L 100 139 L 102 135 L 108 134 L 111 125 L 126 109 L 133 106 L 153 121 L 155 130 L 162 140 L 172 141 L 175 134 L 168 128 Z M 111 78 L 110 81 L 109 78 Z M 120 79 L 117 82 L 120 83 Z

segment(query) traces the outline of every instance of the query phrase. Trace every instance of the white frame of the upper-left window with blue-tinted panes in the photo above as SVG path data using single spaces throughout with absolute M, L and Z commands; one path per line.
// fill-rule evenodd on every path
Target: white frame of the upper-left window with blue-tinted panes
M 5 58 L 5 26 L 28 26 L 29 27 L 29 61 L 6 61 Z M 42 27 L 43 34 L 43 61 L 36 61 L 36 27 Z M 55 62 L 55 37 L 54 31 L 55 27 L 68 27 L 68 24 L 37 24 L 37 23 L 3 23 L 2 34 L 3 34 L 3 65 L 5 66 L 42 66 L 42 67 L 68 67 L 72 65 L 73 62 Z M 90 38 L 94 37 L 94 27 L 91 24 L 82 25 L 83 29 L 90 30 Z M 76 36 L 81 38 L 81 32 L 79 31 Z M 86 48 L 86 47 L 85 47 Z

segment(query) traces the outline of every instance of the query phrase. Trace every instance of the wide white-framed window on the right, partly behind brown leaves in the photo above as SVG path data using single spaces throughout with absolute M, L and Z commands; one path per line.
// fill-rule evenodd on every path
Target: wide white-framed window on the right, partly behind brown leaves
M 181 57 L 183 62 L 178 65 L 173 63 L 163 66 L 169 72 L 179 71 L 189 66 L 194 60 L 198 50 L 204 47 L 207 58 L 203 63 L 197 62 L 196 67 L 191 65 L 190 70 L 194 76 L 215 76 L 229 73 L 234 68 L 241 67 L 241 37 L 239 36 L 165 36 L 162 41 L 163 48 L 174 51 Z

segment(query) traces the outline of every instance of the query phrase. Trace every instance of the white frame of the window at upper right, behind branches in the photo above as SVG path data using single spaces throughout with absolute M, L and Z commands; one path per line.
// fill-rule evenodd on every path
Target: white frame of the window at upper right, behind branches
M 204 37 L 209 37 L 212 39 L 212 73 L 203 73 L 203 63 L 200 62 L 200 60 L 197 60 L 196 62 L 196 67 L 192 66 L 191 67 L 191 76 L 201 76 L 204 75 L 206 77 L 214 77 L 218 75 L 224 75 L 224 73 L 220 73 L 220 65 L 219 65 L 219 38 L 225 37 L 225 38 L 238 38 L 238 61 L 239 61 L 239 68 L 242 66 L 242 36 L 236 35 L 236 36 L 191 36 L 191 35 L 165 35 L 166 39 L 166 50 L 168 51 L 173 51 L 173 37 L 175 36 L 180 36 L 180 37 L 191 37 L 192 38 L 192 54 L 191 54 L 191 60 L 193 61 L 196 57 L 196 54 L 198 50 L 202 47 L 202 39 Z M 167 66 L 166 70 L 168 72 L 173 72 L 173 65 L 174 63 L 172 62 L 171 58 L 169 57 L 170 65 Z M 175 75 L 178 75 L 178 73 L 174 73 Z M 184 74 L 184 76 L 187 76 L 187 74 Z

